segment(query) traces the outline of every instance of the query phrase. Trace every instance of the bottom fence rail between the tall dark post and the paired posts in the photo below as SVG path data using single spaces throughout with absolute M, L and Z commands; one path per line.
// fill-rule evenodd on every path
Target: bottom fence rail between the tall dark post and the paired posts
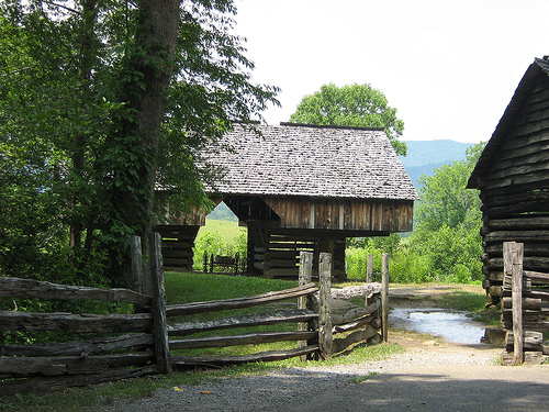
M 250 355 L 233 355 L 233 356 L 181 356 L 173 355 L 172 363 L 176 370 L 182 370 L 189 367 L 200 365 L 224 366 L 238 365 L 251 361 L 273 361 L 289 359 L 295 356 L 302 356 L 318 352 L 318 346 L 299 347 L 290 350 L 269 350 L 260 352 Z

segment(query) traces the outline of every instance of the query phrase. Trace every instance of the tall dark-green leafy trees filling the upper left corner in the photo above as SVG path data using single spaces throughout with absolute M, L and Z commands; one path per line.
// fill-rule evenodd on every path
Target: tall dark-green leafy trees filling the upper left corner
M 250 81 L 233 0 L 0 10 L 0 272 L 34 256 L 120 282 L 130 235 L 166 215 L 155 189 L 176 213 L 208 202 L 195 148 L 261 119 L 278 89 Z

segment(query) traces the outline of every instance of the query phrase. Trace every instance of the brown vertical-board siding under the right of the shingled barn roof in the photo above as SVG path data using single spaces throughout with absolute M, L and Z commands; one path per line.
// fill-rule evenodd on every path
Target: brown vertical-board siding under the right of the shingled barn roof
M 413 201 L 262 197 L 280 227 L 330 231 L 410 232 Z

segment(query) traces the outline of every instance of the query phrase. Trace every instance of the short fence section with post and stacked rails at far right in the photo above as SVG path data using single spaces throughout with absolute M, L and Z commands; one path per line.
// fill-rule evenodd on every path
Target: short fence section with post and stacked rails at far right
M 549 355 L 549 274 L 523 270 L 524 244 L 503 244 L 502 326 L 507 331 L 502 364 L 541 364 Z

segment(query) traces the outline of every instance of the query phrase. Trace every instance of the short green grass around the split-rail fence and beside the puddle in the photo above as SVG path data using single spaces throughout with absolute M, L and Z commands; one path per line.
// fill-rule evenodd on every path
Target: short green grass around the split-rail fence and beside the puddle
M 296 286 L 295 281 L 273 280 L 264 278 L 234 277 L 209 274 L 183 274 L 167 272 L 166 296 L 168 304 L 184 303 L 191 301 L 217 300 L 237 298 L 250 294 L 259 294 L 273 290 L 282 290 Z M 349 283 L 336 283 L 336 287 Z M 393 286 L 392 286 L 393 287 Z M 396 287 L 396 285 L 394 286 Z M 414 285 L 413 287 L 421 287 Z M 479 288 L 480 289 L 480 288 Z M 361 298 L 363 299 L 363 298 Z M 472 290 L 456 289 L 452 292 L 433 296 L 429 298 L 434 304 L 445 308 L 467 310 L 480 313 L 483 309 L 482 289 L 479 292 Z M 278 305 L 284 303 L 278 303 Z M 257 310 L 254 308 L 243 311 Z M 494 312 L 498 313 L 498 312 Z M 234 314 L 234 312 L 233 312 Z M 223 316 L 222 312 L 216 316 Z M 194 316 L 194 318 L 198 318 Z M 281 326 L 284 327 L 284 326 Z M 295 327 L 292 324 L 290 327 Z M 269 326 L 273 330 L 273 326 Z M 257 329 L 256 329 L 257 331 Z M 243 331 L 238 331 L 243 332 Z M 245 332 L 245 331 L 244 331 Z M 244 333 L 243 332 L 243 333 Z M 245 345 L 243 347 L 229 347 L 202 349 L 201 353 L 244 354 L 262 350 L 278 350 L 281 348 L 295 347 L 294 343 L 276 343 L 264 345 Z M 111 404 L 115 399 L 137 400 L 152 396 L 159 388 L 172 388 L 184 385 L 198 385 L 208 380 L 219 379 L 226 376 L 245 376 L 249 374 L 265 374 L 272 368 L 285 368 L 294 366 L 334 366 L 355 365 L 371 360 L 391 357 L 402 353 L 404 348 L 394 344 L 380 344 L 376 346 L 357 346 L 345 356 L 335 356 L 329 361 L 301 363 L 299 358 L 291 358 L 273 363 L 248 364 L 238 367 L 222 368 L 219 370 L 194 370 L 191 372 L 175 372 L 169 377 L 154 376 L 138 379 L 128 379 L 109 383 L 96 385 L 86 388 L 69 388 L 53 393 L 18 394 L 0 398 L 0 410 L 9 411 L 86 411 L 93 410 L 97 405 Z M 356 378 L 356 382 L 367 379 L 369 376 Z

